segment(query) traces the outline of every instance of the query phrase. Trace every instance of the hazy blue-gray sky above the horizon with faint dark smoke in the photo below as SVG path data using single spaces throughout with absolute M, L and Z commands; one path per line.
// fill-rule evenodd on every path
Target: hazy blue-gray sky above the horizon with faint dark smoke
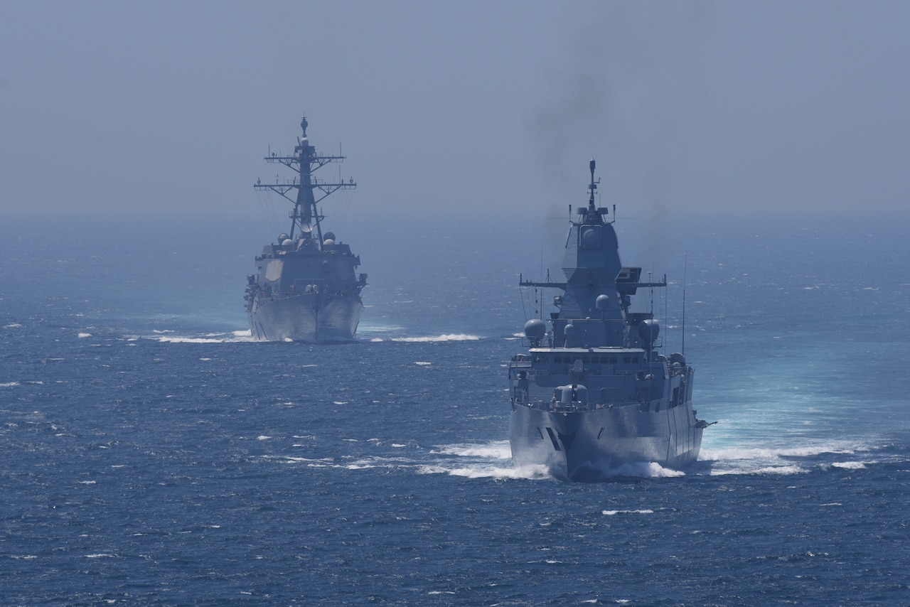
M 591 157 L 626 213 L 905 208 L 908 31 L 898 1 L 7 0 L 0 215 L 258 212 L 304 113 L 363 210 L 561 210 Z

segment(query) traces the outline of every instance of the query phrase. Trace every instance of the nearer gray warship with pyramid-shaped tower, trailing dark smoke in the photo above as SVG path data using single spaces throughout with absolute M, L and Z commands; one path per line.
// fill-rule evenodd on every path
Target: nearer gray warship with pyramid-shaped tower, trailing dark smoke
M 642 282 L 642 268 L 622 266 L 615 206 L 613 221 L 595 207 L 594 160 L 590 167 L 588 206 L 571 218 L 565 245 L 566 282 L 519 278 L 562 294 L 550 329 L 542 319 L 525 323 L 530 348 L 509 364 L 512 461 L 576 481 L 622 476 L 624 464 L 682 469 L 698 458 L 709 425 L 693 410 L 694 371 L 681 353 L 659 351 L 652 311 L 630 311 L 639 288 L 666 288 L 666 278 Z

